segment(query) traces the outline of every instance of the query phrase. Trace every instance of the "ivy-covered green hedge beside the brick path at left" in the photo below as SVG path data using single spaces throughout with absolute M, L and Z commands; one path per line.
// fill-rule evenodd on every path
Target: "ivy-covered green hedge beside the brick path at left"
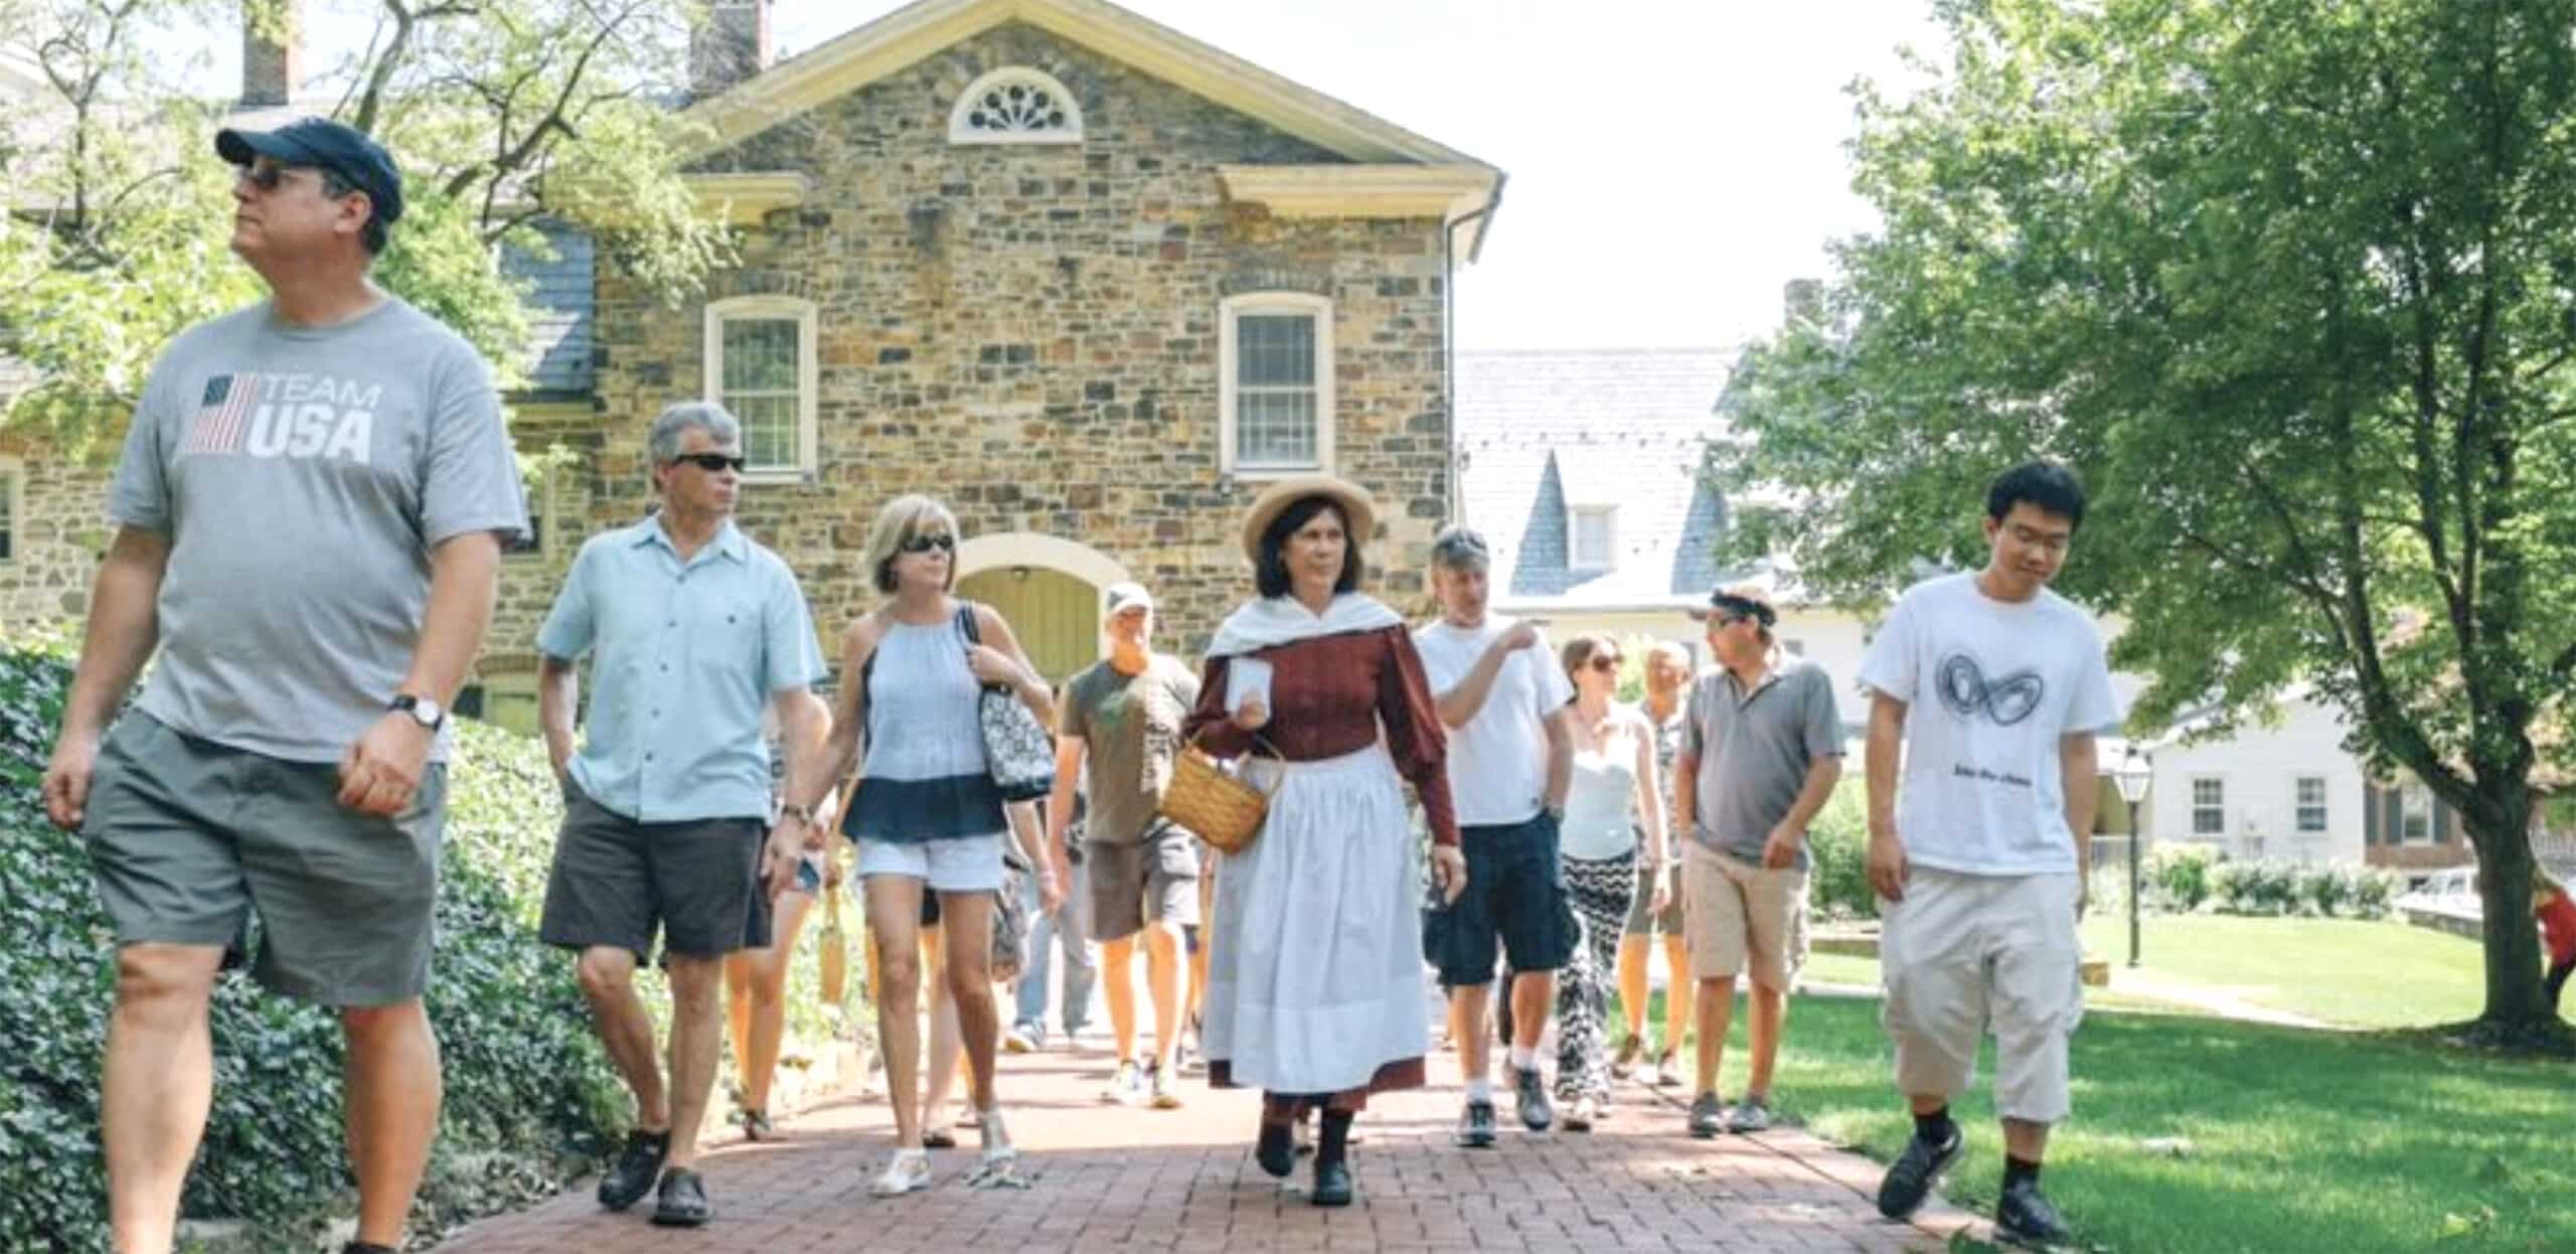
M 59 649 L 0 644 L 0 1249 L 106 1249 L 98 1061 L 113 942 L 75 834 L 39 780 L 70 682 Z M 605 1151 L 626 1097 L 569 963 L 536 942 L 562 798 L 538 742 L 461 729 L 448 788 L 430 1022 L 446 1112 L 417 1233 L 559 1190 Z M 353 1210 L 340 1027 L 242 973 L 214 994 L 214 1112 L 183 1213 L 240 1218 L 260 1249 L 314 1249 Z

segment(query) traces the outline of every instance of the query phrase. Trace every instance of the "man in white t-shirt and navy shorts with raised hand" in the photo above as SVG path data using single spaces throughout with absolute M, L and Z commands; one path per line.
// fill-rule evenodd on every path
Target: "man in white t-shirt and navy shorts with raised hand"
M 1448 525 L 1432 538 L 1432 592 L 1440 621 L 1414 631 L 1414 651 L 1440 721 L 1450 729 L 1448 780 L 1466 852 L 1466 894 L 1445 909 L 1437 953 L 1440 984 L 1455 999 L 1458 1069 L 1466 1110 L 1458 1143 L 1494 1143 L 1492 1043 L 1484 1015 L 1494 986 L 1497 948 L 1512 978 L 1512 1097 L 1533 1133 L 1556 1123 L 1538 1076 L 1538 1035 L 1556 1004 L 1556 968 L 1574 953 L 1556 827 L 1574 778 L 1566 706 L 1574 682 L 1553 662 L 1533 623 L 1486 613 L 1492 551 L 1473 528 Z M 1497 945 L 1499 940 L 1499 945 Z

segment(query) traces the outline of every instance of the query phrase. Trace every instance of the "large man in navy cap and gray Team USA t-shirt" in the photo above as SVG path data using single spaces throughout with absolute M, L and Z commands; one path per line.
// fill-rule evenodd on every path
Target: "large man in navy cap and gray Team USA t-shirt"
M 252 973 L 340 1012 L 348 1251 L 389 1254 L 438 1128 L 420 994 L 446 703 L 528 515 L 482 358 L 368 281 L 394 160 L 319 118 L 214 147 L 240 167 L 232 250 L 270 296 L 183 332 L 144 384 L 44 775 L 116 924 L 111 1241 L 170 1251 L 214 1087 L 206 999 L 258 909 Z

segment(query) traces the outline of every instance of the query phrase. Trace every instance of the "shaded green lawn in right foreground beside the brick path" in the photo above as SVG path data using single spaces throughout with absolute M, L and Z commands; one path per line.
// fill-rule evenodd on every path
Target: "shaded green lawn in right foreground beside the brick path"
M 1656 1007 L 1662 1015 L 1662 1007 Z M 2434 1012 L 2429 1017 L 2442 1017 Z M 1721 1089 L 1744 1081 L 1744 1017 Z M 1878 1002 L 1801 997 L 1783 1112 L 1873 1159 L 1911 1123 Z M 1958 1102 L 1968 1156 L 1947 1195 L 1991 1213 L 2002 1146 L 1986 1079 Z M 2089 1015 L 2074 1120 L 2048 1192 L 2087 1246 L 2146 1251 L 2576 1249 L 2576 1063 L 2504 1061 L 2365 1033 L 2179 1015 Z M 2151 1148 L 2179 1138 L 2187 1148 Z

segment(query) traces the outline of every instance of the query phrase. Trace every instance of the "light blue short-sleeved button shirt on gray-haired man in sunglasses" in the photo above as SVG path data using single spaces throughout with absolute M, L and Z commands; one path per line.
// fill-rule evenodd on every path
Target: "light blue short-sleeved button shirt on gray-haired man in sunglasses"
M 760 713 L 824 677 L 796 574 L 734 523 L 688 561 L 659 515 L 592 536 L 536 646 L 559 662 L 590 654 L 572 780 L 644 824 L 765 819 Z

